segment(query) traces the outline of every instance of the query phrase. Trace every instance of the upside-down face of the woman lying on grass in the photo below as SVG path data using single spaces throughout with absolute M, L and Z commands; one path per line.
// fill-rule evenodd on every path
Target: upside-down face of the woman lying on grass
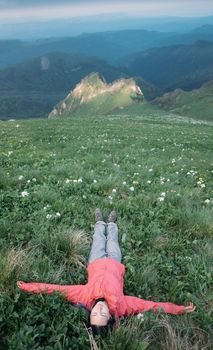
M 91 310 L 90 323 L 93 326 L 106 326 L 110 317 L 107 303 L 105 301 L 99 301 Z

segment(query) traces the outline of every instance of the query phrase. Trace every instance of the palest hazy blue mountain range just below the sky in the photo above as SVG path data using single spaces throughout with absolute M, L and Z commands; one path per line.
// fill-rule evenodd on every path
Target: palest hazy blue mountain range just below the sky
M 184 33 L 206 23 L 209 17 L 130 17 L 124 14 L 76 17 L 62 20 L 0 23 L 0 39 L 36 40 L 47 37 L 76 36 L 82 33 L 145 29 L 149 31 Z

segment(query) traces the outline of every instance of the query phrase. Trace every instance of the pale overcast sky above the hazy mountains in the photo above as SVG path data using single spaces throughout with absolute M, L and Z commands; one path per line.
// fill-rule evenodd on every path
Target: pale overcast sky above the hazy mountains
M 0 21 L 123 13 L 136 16 L 213 15 L 213 0 L 0 0 Z

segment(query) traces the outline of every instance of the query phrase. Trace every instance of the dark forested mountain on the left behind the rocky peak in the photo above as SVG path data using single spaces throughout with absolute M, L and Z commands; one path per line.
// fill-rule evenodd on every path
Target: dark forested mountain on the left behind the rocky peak
M 99 71 L 107 81 L 122 71 L 83 55 L 53 53 L 0 71 L 0 119 L 41 117 L 87 74 Z

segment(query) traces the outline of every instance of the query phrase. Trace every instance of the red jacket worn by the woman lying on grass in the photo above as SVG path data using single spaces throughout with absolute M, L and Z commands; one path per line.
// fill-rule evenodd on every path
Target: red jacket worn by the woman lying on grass
M 115 316 L 132 315 L 147 310 L 157 311 L 162 308 L 170 314 L 181 314 L 184 306 L 172 303 L 161 303 L 143 300 L 123 294 L 124 272 L 123 264 L 112 258 L 93 261 L 87 267 L 88 283 L 85 285 L 59 286 L 47 283 L 24 283 L 19 287 L 26 292 L 51 294 L 58 291 L 74 304 L 83 304 L 91 310 L 95 300 L 104 298 L 110 313 Z

